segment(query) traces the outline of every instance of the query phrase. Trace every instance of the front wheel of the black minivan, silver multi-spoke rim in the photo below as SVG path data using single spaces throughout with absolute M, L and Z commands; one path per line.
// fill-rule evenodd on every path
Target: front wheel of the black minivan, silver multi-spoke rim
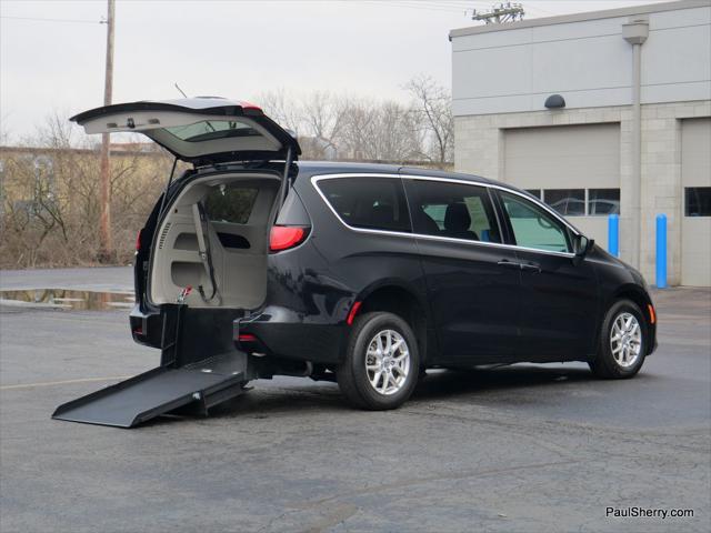
M 631 300 L 619 300 L 605 313 L 598 354 L 589 363 L 595 376 L 621 380 L 635 375 L 647 354 L 647 322 Z

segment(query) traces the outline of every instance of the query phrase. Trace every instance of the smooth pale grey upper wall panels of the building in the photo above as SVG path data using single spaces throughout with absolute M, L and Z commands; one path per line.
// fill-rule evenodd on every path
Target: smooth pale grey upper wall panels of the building
M 711 7 L 648 13 L 642 103 L 711 98 Z M 631 103 L 630 16 L 452 36 L 455 115 L 537 111 L 552 93 L 567 108 Z M 455 32 L 454 32 L 455 33 Z

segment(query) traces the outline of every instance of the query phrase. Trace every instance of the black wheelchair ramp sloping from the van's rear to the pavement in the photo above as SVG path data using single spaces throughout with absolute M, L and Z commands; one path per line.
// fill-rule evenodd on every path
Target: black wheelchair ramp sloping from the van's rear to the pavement
M 179 408 L 207 414 L 211 406 L 242 393 L 244 360 L 242 353 L 230 353 L 190 366 L 149 370 L 60 405 L 52 419 L 133 428 Z

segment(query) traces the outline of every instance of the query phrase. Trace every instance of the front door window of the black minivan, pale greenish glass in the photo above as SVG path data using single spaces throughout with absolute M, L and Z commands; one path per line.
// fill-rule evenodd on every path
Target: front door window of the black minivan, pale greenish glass
M 568 229 L 544 209 L 503 191 L 501 200 L 517 245 L 547 252 L 571 252 Z

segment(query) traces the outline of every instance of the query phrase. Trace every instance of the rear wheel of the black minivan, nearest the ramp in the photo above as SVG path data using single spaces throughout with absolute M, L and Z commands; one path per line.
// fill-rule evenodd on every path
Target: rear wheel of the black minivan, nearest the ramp
M 420 354 L 412 329 L 400 316 L 372 312 L 359 316 L 337 369 L 348 403 L 383 411 L 402 405 L 414 391 Z

